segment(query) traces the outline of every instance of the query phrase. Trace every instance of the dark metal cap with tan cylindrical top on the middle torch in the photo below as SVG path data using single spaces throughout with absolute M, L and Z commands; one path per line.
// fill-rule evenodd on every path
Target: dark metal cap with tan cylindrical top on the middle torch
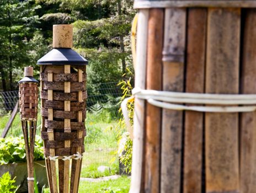
M 53 26 L 53 49 L 41 57 L 38 65 L 87 65 L 88 61 L 72 50 L 73 26 Z

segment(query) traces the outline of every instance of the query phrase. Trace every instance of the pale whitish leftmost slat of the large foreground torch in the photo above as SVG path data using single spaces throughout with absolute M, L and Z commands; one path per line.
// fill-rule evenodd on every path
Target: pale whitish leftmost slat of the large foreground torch
M 135 87 L 145 89 L 146 85 L 146 62 L 147 62 L 147 26 L 148 9 L 138 12 L 137 23 L 137 46 L 135 66 Z M 145 101 L 135 99 L 134 104 L 134 140 L 132 147 L 132 170 L 130 193 L 141 191 L 143 171 L 143 141 L 145 129 Z

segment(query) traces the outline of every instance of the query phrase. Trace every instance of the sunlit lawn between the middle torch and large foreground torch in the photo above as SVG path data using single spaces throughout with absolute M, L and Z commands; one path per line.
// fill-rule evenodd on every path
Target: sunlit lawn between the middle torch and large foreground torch
M 119 163 L 116 152 L 118 151 L 118 138 L 114 129 L 116 122 L 102 124 L 89 122 L 87 124 L 87 137 L 84 142 L 84 158 L 81 171 L 83 178 L 99 178 L 114 175 L 119 172 Z M 110 171 L 99 173 L 100 165 L 110 167 Z

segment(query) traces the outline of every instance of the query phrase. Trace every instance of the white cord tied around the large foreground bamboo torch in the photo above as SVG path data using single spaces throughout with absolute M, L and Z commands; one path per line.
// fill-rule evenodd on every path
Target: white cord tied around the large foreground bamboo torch
M 252 112 L 256 110 L 256 94 L 201 94 L 180 93 L 158 90 L 132 89 L 132 96 L 122 101 L 121 109 L 125 124 L 132 133 L 132 127 L 127 110 L 127 103 L 132 99 L 147 100 L 148 103 L 159 108 L 170 110 L 191 110 L 199 112 Z M 181 104 L 173 104 L 181 103 Z M 182 104 L 201 104 L 214 106 L 186 106 Z M 217 106 L 216 106 L 217 105 Z M 222 106 L 221 106 L 222 105 Z M 240 105 L 240 106 L 227 106 Z M 241 106 L 247 105 L 247 106 Z M 249 105 L 249 106 L 248 106 Z M 132 135 L 131 135 L 132 136 Z

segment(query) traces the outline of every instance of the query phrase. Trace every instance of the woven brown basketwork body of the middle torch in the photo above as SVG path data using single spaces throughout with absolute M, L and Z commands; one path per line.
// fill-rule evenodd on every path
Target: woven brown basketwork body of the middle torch
M 86 118 L 86 72 L 82 68 L 82 82 L 79 81 L 78 69 L 81 67 L 70 66 L 70 73 L 65 73 L 64 66 L 45 65 L 40 73 L 41 81 L 41 116 L 42 132 L 44 140 L 44 154 L 49 156 L 71 156 L 77 153 L 77 148 L 81 147 L 84 152 L 84 136 Z M 49 78 L 50 77 L 50 78 Z M 65 85 L 69 84 L 69 92 L 65 92 Z M 79 101 L 79 95 L 82 100 Z M 65 104 L 70 103 L 68 110 Z M 82 121 L 79 121 L 81 112 Z M 65 124 L 66 121 L 66 124 Z M 70 126 L 70 132 L 65 130 L 65 125 Z M 69 129 L 69 128 L 68 128 Z M 79 136 L 79 132 L 83 135 Z M 54 140 L 52 140 L 52 133 Z M 65 141 L 70 141 L 70 147 L 65 147 Z M 50 149 L 54 149 L 54 154 Z

